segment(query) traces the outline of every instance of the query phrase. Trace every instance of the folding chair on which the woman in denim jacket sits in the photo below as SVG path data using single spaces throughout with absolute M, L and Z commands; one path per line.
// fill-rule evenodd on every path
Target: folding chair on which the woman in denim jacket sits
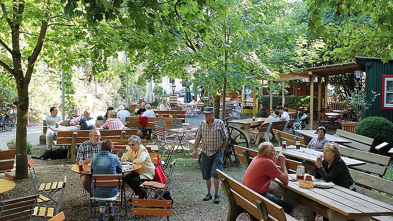
M 99 202 L 113 202 L 114 207 L 117 207 L 117 211 L 115 210 L 115 216 L 117 214 L 117 220 L 120 218 L 120 206 L 124 201 L 124 212 L 127 216 L 127 201 L 125 200 L 125 191 L 124 191 L 124 183 L 123 183 L 123 174 L 93 174 L 91 179 L 92 190 L 90 191 L 90 218 L 97 218 L 97 208 Z M 97 187 L 117 187 L 118 192 L 113 197 L 97 197 L 95 196 Z M 94 193 L 94 196 L 93 196 Z M 93 216 L 93 207 L 94 216 Z M 105 210 L 105 213 L 108 213 L 108 210 Z M 98 211 L 99 214 L 99 211 Z

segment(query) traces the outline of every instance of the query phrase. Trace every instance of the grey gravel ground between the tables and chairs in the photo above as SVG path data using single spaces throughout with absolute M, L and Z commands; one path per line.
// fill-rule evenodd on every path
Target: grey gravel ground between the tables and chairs
M 187 122 L 191 125 L 198 125 L 203 117 L 189 118 Z M 254 146 L 255 147 L 255 146 Z M 32 156 L 40 156 L 45 151 L 44 145 L 34 147 Z M 30 156 L 29 156 L 30 157 Z M 206 195 L 206 185 L 202 180 L 200 168 L 197 160 L 179 152 L 172 159 L 177 159 L 176 168 L 172 176 L 172 186 L 170 193 L 173 197 L 173 213 L 171 220 L 226 220 L 228 212 L 228 202 L 225 194 L 220 188 L 221 203 L 213 204 L 212 201 L 203 202 L 202 198 Z M 55 182 L 67 176 L 67 186 L 65 187 L 64 200 L 61 210 L 64 211 L 67 220 L 94 220 L 90 219 L 88 197 L 83 195 L 79 175 L 71 171 L 72 162 L 69 160 L 34 160 L 34 167 L 41 182 Z M 246 171 L 245 165 L 224 169 L 224 172 L 232 178 L 241 181 Z M 16 181 L 16 188 L 20 195 L 33 194 L 31 180 Z M 272 182 L 271 191 L 280 196 L 280 188 Z M 129 197 L 131 191 L 126 187 L 126 195 Z M 10 198 L 8 193 L 0 195 L 0 200 Z M 133 219 L 130 214 L 132 205 L 127 204 L 128 215 L 121 214 L 120 220 Z M 295 211 L 294 216 L 302 220 L 302 212 Z M 164 220 L 165 217 L 139 216 L 138 220 Z M 317 220 L 321 220 L 320 217 Z M 249 220 L 248 216 L 242 214 L 237 220 Z

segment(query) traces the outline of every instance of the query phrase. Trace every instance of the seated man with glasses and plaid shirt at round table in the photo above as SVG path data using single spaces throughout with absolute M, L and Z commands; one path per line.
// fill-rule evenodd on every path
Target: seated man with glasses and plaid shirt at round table
M 76 152 L 76 163 L 82 158 L 84 164 L 92 163 L 94 154 L 99 153 L 101 150 L 101 133 L 98 129 L 92 129 L 89 132 L 89 140 L 83 142 Z M 83 188 L 90 193 L 90 179 L 88 174 L 80 175 L 80 182 Z

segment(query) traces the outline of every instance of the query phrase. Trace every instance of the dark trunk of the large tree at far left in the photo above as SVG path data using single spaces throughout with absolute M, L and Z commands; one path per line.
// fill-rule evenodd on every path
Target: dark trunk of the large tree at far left
M 16 170 L 15 179 L 21 180 L 29 177 L 27 171 L 27 121 L 29 109 L 29 84 L 25 79 L 20 80 L 18 90 L 18 112 L 16 121 Z

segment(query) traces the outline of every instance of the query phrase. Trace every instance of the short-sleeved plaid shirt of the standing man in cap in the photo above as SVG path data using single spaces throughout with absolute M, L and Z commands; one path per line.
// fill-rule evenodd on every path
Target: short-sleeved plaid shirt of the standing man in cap
M 195 139 L 202 140 L 202 152 L 207 156 L 212 156 L 218 149 L 221 149 L 223 139 L 228 139 L 227 129 L 224 122 L 214 119 L 213 124 L 209 126 L 206 120 L 199 124 L 197 136 Z

